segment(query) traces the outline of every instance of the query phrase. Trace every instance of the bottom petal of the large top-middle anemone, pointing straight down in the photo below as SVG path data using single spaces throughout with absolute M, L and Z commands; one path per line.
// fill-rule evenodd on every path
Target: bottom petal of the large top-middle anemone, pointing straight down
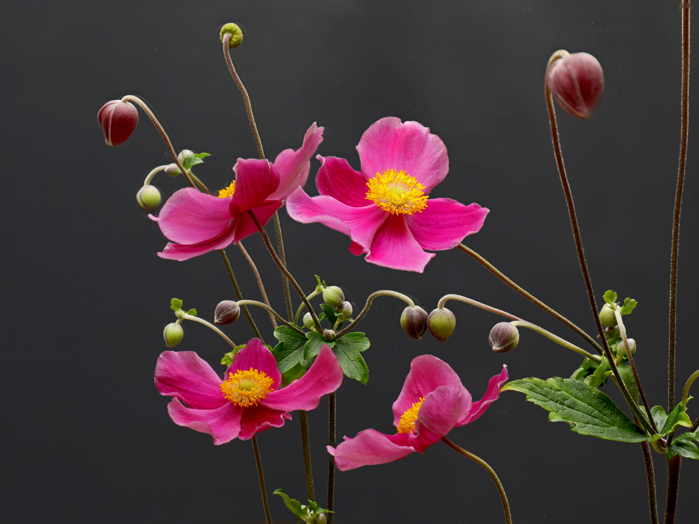
M 382 212 L 387 215 L 387 220 L 376 232 L 366 261 L 383 265 L 384 268 L 423 272 L 425 265 L 435 256 L 434 253 L 426 253 L 422 250 L 410 233 L 403 215 Z M 352 240 L 357 239 L 352 238 Z M 363 242 L 359 243 L 366 246 Z

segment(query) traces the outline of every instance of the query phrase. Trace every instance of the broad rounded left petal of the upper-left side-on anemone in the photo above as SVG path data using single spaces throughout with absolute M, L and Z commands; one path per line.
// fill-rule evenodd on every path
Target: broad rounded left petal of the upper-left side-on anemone
M 228 198 L 216 198 L 193 187 L 175 191 L 158 217 L 148 216 L 178 244 L 208 242 L 226 231 L 231 222 Z

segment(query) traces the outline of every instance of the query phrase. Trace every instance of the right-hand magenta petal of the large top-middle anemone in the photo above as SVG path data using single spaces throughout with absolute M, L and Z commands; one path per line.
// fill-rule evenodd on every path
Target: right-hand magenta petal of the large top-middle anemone
M 451 198 L 430 198 L 422 212 L 405 217 L 408 228 L 422 249 L 452 249 L 468 235 L 480 231 L 488 208 L 463 205 Z

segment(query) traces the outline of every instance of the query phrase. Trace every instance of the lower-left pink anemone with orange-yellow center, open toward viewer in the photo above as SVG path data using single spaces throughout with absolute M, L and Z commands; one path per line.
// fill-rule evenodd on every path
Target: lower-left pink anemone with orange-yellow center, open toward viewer
M 224 379 L 194 351 L 165 351 L 155 367 L 155 387 L 174 397 L 168 404 L 173 422 L 208 433 L 214 444 L 280 428 L 294 409 L 315 409 L 320 398 L 343 381 L 333 351 L 324 345 L 308 372 L 279 389 L 277 362 L 261 340 L 241 349 Z

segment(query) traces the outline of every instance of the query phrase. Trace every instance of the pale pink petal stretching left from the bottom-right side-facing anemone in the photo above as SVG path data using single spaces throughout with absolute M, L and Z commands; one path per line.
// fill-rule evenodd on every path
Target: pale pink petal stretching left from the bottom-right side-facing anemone
M 408 444 L 408 434 L 384 435 L 377 430 L 363 430 L 353 439 L 345 437 L 336 449 L 328 446 L 340 471 L 355 467 L 385 464 L 401 460 L 415 451 Z

